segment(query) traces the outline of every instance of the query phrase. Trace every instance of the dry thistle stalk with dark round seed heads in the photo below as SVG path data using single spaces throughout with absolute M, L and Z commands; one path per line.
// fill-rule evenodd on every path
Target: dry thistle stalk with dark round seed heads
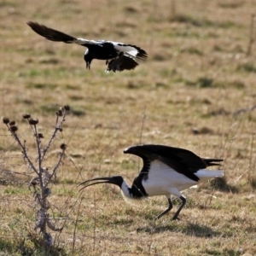
M 46 143 L 45 146 L 43 146 L 42 143 L 44 135 L 38 131 L 39 120 L 33 119 L 29 113 L 23 114 L 23 119 L 27 120 L 27 124 L 30 126 L 32 130 L 32 136 L 34 137 L 35 150 L 37 154 L 35 160 L 33 160 L 32 156 L 28 153 L 26 140 L 20 140 L 18 135 L 18 126 L 16 125 L 15 121 L 10 121 L 9 118 L 3 118 L 3 124 L 7 126 L 8 131 L 12 137 L 15 138 L 15 142 L 20 146 L 23 159 L 25 160 L 28 168 L 36 174 L 36 177 L 33 177 L 30 181 L 28 188 L 30 190 L 32 189 L 34 201 L 38 206 L 36 212 L 36 223 L 34 226 L 34 230 L 39 230 L 40 235 L 37 244 L 40 245 L 46 254 L 49 254 L 49 248 L 53 245 L 53 238 L 50 235 L 49 230 L 61 231 L 63 229 L 63 227 L 56 227 L 49 218 L 48 210 L 50 204 L 48 197 L 51 194 L 49 183 L 56 176 L 56 172 L 63 161 L 67 145 L 65 143 L 61 143 L 61 152 L 52 170 L 44 167 L 44 157 L 47 154 L 51 144 L 53 143 L 57 133 L 62 132 L 62 125 L 69 110 L 70 107 L 66 105 L 57 111 L 54 131 L 49 138 L 49 142 Z

